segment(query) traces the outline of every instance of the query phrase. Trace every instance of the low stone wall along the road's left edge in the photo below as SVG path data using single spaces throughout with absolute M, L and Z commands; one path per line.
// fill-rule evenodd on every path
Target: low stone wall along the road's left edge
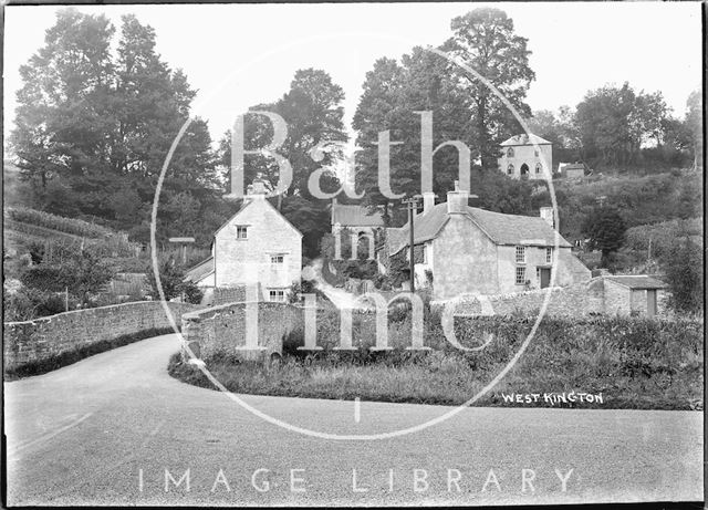
M 181 314 L 197 309 L 167 303 L 179 326 Z M 170 327 L 159 301 L 138 301 L 75 310 L 24 322 L 3 324 L 6 370 L 51 360 L 70 351 L 124 335 Z

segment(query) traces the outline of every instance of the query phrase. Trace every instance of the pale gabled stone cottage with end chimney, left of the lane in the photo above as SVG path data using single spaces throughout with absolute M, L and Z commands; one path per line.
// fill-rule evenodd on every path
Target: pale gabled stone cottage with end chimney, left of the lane
M 185 279 L 205 288 L 258 284 L 263 301 L 285 301 L 300 281 L 302 233 L 266 199 L 257 179 L 241 208 L 214 235 L 211 257 L 190 269 Z

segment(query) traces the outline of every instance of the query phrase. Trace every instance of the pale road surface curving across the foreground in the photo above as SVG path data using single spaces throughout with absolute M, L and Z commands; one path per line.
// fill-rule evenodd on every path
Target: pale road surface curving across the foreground
M 470 408 L 441 425 L 394 439 L 323 440 L 268 424 L 223 394 L 170 378 L 165 367 L 177 342 L 175 335 L 159 336 L 7 383 L 9 502 L 500 504 L 702 499 L 700 413 Z M 362 403 L 356 423 L 352 402 L 246 398 L 278 418 L 344 434 L 392 430 L 448 409 Z M 178 488 L 169 483 L 166 492 L 166 469 L 175 480 L 189 469 L 189 491 L 185 479 Z M 556 469 L 568 476 L 565 492 Z M 362 492 L 353 490 L 353 470 Z M 261 490 L 268 480 L 268 491 L 251 485 L 253 473 Z M 424 481 L 415 490 L 416 475 L 427 476 L 427 490 Z

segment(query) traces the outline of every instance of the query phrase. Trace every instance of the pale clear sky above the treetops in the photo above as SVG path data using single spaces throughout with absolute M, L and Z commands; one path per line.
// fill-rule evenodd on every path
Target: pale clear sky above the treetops
M 399 59 L 414 45 L 438 45 L 451 34 L 450 20 L 493 6 L 513 19 L 529 40 L 537 79 L 532 110 L 576 105 L 587 91 L 629 82 L 660 91 L 683 116 L 690 92 L 700 90 L 699 2 L 507 2 L 350 4 L 153 4 L 81 6 L 104 13 L 116 28 L 134 13 L 157 34 L 157 51 L 180 67 L 198 95 L 192 113 L 206 118 L 212 138 L 249 106 L 272 102 L 289 89 L 294 72 L 330 73 L 354 115 L 365 74 L 381 56 Z M 6 6 L 4 134 L 13 127 L 19 67 L 44 43 L 55 6 Z M 117 38 L 116 38 L 117 39 Z

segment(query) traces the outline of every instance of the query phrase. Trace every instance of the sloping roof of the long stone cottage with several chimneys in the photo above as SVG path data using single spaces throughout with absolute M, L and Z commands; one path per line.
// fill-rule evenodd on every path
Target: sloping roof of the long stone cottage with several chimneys
M 496 244 L 555 246 L 556 231 L 541 217 L 504 215 L 477 207 L 468 207 L 465 216 Z M 414 244 L 438 237 L 449 218 L 445 202 L 438 204 L 426 214 L 417 215 L 414 220 Z M 392 254 L 408 246 L 408 223 L 397 230 L 399 232 L 389 238 Z M 571 246 L 560 235 L 558 237 L 559 246 L 564 248 Z

